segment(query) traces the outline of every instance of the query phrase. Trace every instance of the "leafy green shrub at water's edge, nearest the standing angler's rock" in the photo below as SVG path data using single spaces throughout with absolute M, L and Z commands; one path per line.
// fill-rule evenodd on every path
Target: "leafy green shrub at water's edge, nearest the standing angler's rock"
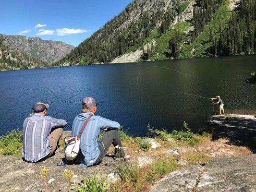
M 183 129 L 181 131 L 173 130 L 171 132 L 171 137 L 192 146 L 195 145 L 198 142 L 198 139 L 195 137 L 194 133 L 191 132 L 185 121 L 183 122 L 183 128 L 185 131 L 183 131 Z

